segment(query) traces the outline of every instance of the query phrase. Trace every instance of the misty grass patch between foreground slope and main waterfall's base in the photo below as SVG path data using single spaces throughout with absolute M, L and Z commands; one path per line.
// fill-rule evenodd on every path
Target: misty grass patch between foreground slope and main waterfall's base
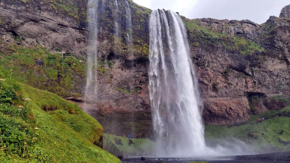
M 116 143 L 121 142 L 121 143 Z M 129 145 L 129 140 L 132 144 Z M 104 134 L 104 149 L 114 155 L 143 155 L 153 149 L 154 142 L 150 139 L 131 139 L 111 134 Z

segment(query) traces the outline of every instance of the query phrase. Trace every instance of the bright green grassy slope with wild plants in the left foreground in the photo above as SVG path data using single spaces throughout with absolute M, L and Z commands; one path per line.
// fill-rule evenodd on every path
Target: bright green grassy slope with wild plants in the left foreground
M 76 104 L 15 82 L 1 70 L 0 161 L 120 162 L 98 147 L 102 126 Z

